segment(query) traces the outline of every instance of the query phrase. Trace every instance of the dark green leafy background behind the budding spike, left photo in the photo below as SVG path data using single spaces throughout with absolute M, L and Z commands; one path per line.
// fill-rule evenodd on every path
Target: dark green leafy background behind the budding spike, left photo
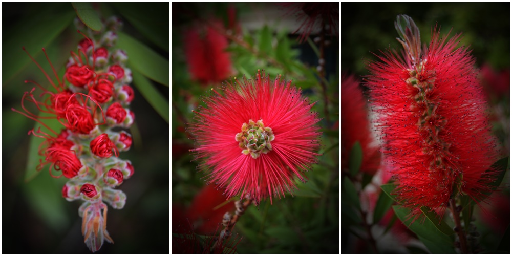
M 107 229 L 115 244 L 105 242 L 99 252 L 169 253 L 169 4 L 92 6 L 101 18 L 120 17 L 122 33 L 143 46 L 123 45 L 118 40 L 119 48 L 135 49 L 142 55 L 142 59 L 130 59 L 127 51 L 127 67 L 142 75 L 137 78 L 139 82 L 131 84 L 135 91 L 130 105 L 136 116 L 130 131 L 134 142 L 130 151 L 119 156 L 132 161 L 135 174 L 119 187 L 127 196 L 124 208 L 110 208 L 108 212 Z M 83 38 L 73 24 L 76 13 L 70 3 L 4 3 L 2 7 L 2 252 L 89 253 L 80 230 L 80 202 L 62 198 L 66 179 L 51 178 L 48 166 L 40 173 L 35 172 L 34 165 L 28 166 L 29 161 L 37 162 L 38 142 L 27 135 L 35 122 L 11 111 L 21 109 L 23 93 L 33 87 L 24 80 L 49 86 L 22 46 L 51 74 L 41 51 L 45 47 L 62 77 L 70 51 L 76 52 Z M 134 62 L 159 63 L 160 67 L 148 74 Z

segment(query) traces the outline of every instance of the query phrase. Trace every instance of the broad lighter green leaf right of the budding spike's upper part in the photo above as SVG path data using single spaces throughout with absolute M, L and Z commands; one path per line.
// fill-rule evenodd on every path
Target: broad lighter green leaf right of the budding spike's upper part
M 128 64 L 144 76 L 169 86 L 169 61 L 135 38 L 118 32 L 117 47 L 128 55 Z

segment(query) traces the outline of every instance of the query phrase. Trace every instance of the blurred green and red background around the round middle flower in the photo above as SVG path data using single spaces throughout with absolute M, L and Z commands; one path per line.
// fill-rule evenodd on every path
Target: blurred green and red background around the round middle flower
M 222 189 L 205 187 L 206 173 L 197 172 L 199 162 L 188 152 L 194 147 L 186 130 L 191 110 L 203 105 L 201 96 L 211 88 L 261 69 L 270 79 L 291 79 L 316 101 L 323 155 L 293 196 L 250 205 L 229 247 L 238 253 L 338 253 L 338 15 L 338 3 L 172 3 L 172 252 L 186 250 L 183 234 L 211 235 L 224 213 L 234 211 Z M 208 244 L 194 237 L 201 247 Z

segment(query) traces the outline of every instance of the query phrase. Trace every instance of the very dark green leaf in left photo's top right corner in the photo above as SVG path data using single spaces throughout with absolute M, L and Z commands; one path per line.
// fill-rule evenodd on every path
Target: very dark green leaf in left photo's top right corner
M 113 3 L 113 5 L 148 40 L 169 52 L 167 3 Z

